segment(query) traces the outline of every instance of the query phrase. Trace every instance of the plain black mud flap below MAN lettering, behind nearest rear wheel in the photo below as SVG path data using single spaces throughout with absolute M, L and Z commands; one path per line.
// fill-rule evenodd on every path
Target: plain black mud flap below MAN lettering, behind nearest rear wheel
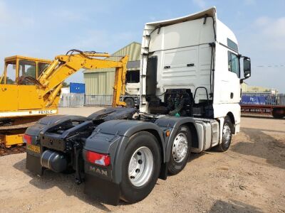
M 84 193 L 90 197 L 99 198 L 100 202 L 118 205 L 120 200 L 120 186 L 86 173 Z

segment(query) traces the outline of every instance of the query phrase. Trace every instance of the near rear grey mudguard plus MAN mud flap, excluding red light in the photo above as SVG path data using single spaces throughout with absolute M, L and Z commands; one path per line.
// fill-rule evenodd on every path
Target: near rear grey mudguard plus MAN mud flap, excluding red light
M 84 151 L 95 151 L 110 154 L 108 168 L 90 165 L 85 160 L 86 194 L 100 197 L 104 202 L 118 204 L 120 200 L 120 182 L 122 180 L 123 155 L 130 136 L 138 131 L 156 131 L 162 146 L 165 161 L 165 139 L 159 126 L 144 121 L 113 120 L 97 126 L 86 139 Z M 83 156 L 85 156 L 83 154 Z

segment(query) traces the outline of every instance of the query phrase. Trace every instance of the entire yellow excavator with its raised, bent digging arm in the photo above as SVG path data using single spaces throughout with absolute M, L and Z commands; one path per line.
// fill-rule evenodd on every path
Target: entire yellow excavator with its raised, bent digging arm
M 63 81 L 78 70 L 115 68 L 113 107 L 125 106 L 120 94 L 125 91 L 128 55 L 120 60 L 105 60 L 108 53 L 69 50 L 53 61 L 23 56 L 5 58 L 0 78 L 0 145 L 22 143 L 28 128 L 43 116 L 57 114 Z

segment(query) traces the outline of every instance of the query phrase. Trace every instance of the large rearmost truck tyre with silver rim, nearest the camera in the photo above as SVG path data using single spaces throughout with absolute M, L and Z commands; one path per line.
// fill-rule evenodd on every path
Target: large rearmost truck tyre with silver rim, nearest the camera
M 147 131 L 130 138 L 123 157 L 121 199 L 138 202 L 150 194 L 160 174 L 161 153 L 157 138 Z

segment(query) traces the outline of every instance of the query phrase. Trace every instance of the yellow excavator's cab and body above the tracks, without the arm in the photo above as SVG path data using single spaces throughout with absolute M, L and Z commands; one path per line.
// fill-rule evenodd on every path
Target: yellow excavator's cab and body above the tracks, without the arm
M 30 98 L 38 97 L 35 82 L 50 63 L 51 60 L 21 55 L 5 58 L 4 73 L 0 78 L 0 98 L 3 100 L 0 112 L 41 109 L 40 99 L 31 101 Z M 31 77 L 32 81 L 25 77 Z

